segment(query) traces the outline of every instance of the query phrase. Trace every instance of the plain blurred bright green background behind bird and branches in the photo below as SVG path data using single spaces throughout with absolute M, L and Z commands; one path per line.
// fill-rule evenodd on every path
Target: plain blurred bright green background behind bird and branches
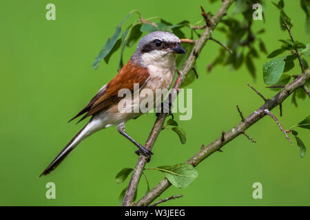
M 56 21 L 45 19 L 45 5 L 56 5 Z M 0 3 L 0 205 L 2 206 L 117 206 L 118 195 L 125 188 L 114 177 L 124 167 L 134 167 L 136 150 L 116 127 L 99 131 L 83 143 L 46 177 L 38 178 L 63 146 L 85 122 L 67 121 L 94 96 L 99 88 L 116 74 L 118 54 L 109 65 L 101 63 L 96 71 L 92 62 L 116 25 L 130 10 L 140 10 L 143 17 L 163 17 L 177 23 L 201 19 L 199 6 L 216 12 L 220 6 L 209 1 L 1 1 Z M 299 1 L 285 1 L 287 14 L 293 19 L 293 36 L 307 43 L 305 14 Z M 233 7 L 229 10 L 231 12 Z M 262 39 L 269 52 L 280 47 L 277 39 L 287 39 L 279 26 L 279 12 L 271 2 L 265 9 L 266 23 L 254 21 L 254 30 L 265 28 Z M 125 27 L 136 19 L 134 14 Z M 214 31 L 214 38 L 225 41 Z M 135 47 L 135 46 L 134 46 Z M 125 50 L 127 61 L 134 47 Z M 266 97 L 275 92 L 265 89 L 262 64 L 265 54 L 255 61 L 258 78 L 254 82 L 245 65 L 238 72 L 229 67 L 215 67 L 206 73 L 207 64 L 218 54 L 219 45 L 208 41 L 197 61 L 199 79 L 193 89 L 192 120 L 180 121 L 187 143 L 180 144 L 172 131 L 161 132 L 154 146 L 149 167 L 184 162 L 209 144 L 224 130 L 235 126 L 240 117 L 236 104 L 248 115 L 262 100 L 247 87 L 251 83 Z M 308 61 L 309 62 L 309 61 Z M 290 72 L 299 74 L 298 65 Z M 285 128 L 309 115 L 309 98 L 291 98 L 283 103 L 283 117 L 273 110 Z M 176 118 L 178 115 L 175 114 Z M 144 143 L 155 121 L 149 113 L 127 123 L 127 132 Z M 309 131 L 298 129 L 306 146 Z M 257 140 L 251 143 L 240 135 L 197 166 L 198 178 L 187 188 L 170 187 L 161 198 L 183 194 L 165 203 L 172 206 L 299 206 L 310 205 L 310 155 L 301 159 L 293 140 L 289 144 L 271 118 L 265 117 L 247 133 Z M 292 137 L 293 138 L 293 137 Z M 156 170 L 145 172 L 151 187 L 163 178 Z M 45 184 L 56 184 L 56 199 L 45 198 Z M 263 199 L 253 199 L 252 184 L 262 183 Z M 146 190 L 141 179 L 138 198 Z

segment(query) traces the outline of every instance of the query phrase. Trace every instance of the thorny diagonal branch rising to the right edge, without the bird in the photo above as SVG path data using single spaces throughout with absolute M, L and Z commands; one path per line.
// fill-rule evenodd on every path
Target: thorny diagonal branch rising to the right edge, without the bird
M 240 122 L 233 128 L 229 129 L 225 134 L 225 142 L 221 142 L 221 137 L 218 137 L 214 142 L 204 146 L 203 148 L 198 151 L 195 155 L 187 160 L 187 164 L 191 164 L 192 166 L 197 166 L 202 162 L 204 159 L 209 157 L 209 155 L 217 152 L 220 148 L 225 146 L 231 140 L 234 140 L 238 135 L 243 134 L 250 126 L 258 122 L 258 120 L 262 119 L 267 113 L 265 109 L 274 109 L 278 104 L 282 103 L 287 97 L 293 94 L 296 89 L 302 87 L 304 83 L 309 80 L 310 78 L 310 68 L 305 70 L 304 74 L 300 74 L 296 77 L 292 83 L 289 83 L 285 88 L 273 96 L 268 102 L 265 102 L 260 108 L 256 109 L 253 113 L 245 118 L 245 122 Z M 135 205 L 136 206 L 147 206 L 149 203 L 154 201 L 158 196 L 161 195 L 167 188 L 169 188 L 171 184 L 169 183 L 167 178 L 164 178 L 160 181 L 152 190 L 147 192 L 147 194 L 140 199 Z

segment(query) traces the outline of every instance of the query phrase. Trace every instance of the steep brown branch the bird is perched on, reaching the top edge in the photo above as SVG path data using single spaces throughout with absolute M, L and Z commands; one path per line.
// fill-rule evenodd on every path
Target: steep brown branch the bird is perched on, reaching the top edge
M 187 58 L 187 61 L 185 62 L 185 65 L 183 66 L 183 69 L 180 72 L 180 75 L 176 79 L 176 83 L 174 83 L 174 89 L 172 89 L 172 91 L 170 92 L 170 94 L 172 94 L 172 97 L 176 98 L 178 88 L 180 88 L 180 85 L 182 85 L 183 81 L 187 77 L 187 74 L 189 74 L 189 72 L 194 67 L 194 63 L 196 62 L 196 59 L 198 58 L 201 50 L 203 50 L 205 43 L 207 43 L 207 41 L 209 40 L 209 37 L 211 36 L 214 28 L 216 28 L 216 25 L 227 14 L 227 9 L 231 6 L 232 3 L 234 3 L 234 0 L 223 1 L 218 12 L 216 12 L 214 17 L 212 17 L 210 25 L 208 25 L 205 28 L 205 31 L 203 32 L 203 34 L 201 34 L 200 38 L 196 40 L 196 43 L 194 45 L 192 52 L 189 54 L 189 57 Z M 147 138 L 145 148 L 149 150 L 153 148 L 154 143 L 163 128 L 163 124 L 165 122 L 166 117 L 167 117 L 167 114 L 165 113 L 160 113 L 158 115 L 156 122 L 153 126 L 153 129 L 151 133 L 149 134 L 149 137 Z M 143 168 L 145 167 L 146 163 L 147 163 L 147 157 L 145 157 L 144 155 L 140 155 L 140 157 L 138 158 L 136 167 L 134 168 L 132 177 L 130 179 L 130 184 L 128 185 L 127 191 L 125 193 L 125 197 L 123 200 L 123 206 L 131 206 L 134 204 L 134 195 L 136 193 L 138 182 L 140 181 Z M 158 197 L 159 195 L 161 194 L 156 195 L 156 197 Z M 154 197 L 154 199 L 156 199 L 156 197 Z M 149 203 L 154 201 L 154 199 L 149 200 Z M 147 205 L 149 203 L 147 203 Z

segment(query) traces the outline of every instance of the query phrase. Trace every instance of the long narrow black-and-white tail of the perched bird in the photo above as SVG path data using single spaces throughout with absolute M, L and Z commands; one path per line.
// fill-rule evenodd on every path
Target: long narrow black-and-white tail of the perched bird
M 43 171 L 43 173 L 41 173 L 39 177 L 41 177 L 42 175 L 48 175 L 50 172 L 52 172 L 52 170 L 54 170 L 82 140 L 84 140 L 92 133 L 94 133 L 92 123 L 89 122 L 83 127 L 83 129 L 81 129 L 81 131 L 79 131 L 79 133 L 77 133 L 72 138 L 72 140 L 65 146 L 65 148 L 63 148 L 61 153 L 56 156 L 56 158 L 50 163 L 50 165 L 45 168 L 45 170 Z

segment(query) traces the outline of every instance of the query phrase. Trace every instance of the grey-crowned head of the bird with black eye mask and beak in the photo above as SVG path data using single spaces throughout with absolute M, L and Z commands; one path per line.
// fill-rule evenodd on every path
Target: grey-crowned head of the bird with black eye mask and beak
M 175 58 L 176 54 L 185 54 L 185 50 L 180 45 L 180 39 L 170 32 L 151 32 L 139 41 L 136 52 L 132 56 L 133 61 L 145 63 L 147 61 L 160 61 L 163 58 Z

